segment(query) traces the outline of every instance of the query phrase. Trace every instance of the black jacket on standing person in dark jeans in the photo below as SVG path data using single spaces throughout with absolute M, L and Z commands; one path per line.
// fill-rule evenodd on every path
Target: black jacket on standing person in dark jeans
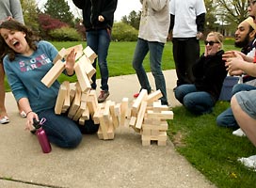
M 72 0 L 73 4 L 83 10 L 83 24 L 86 30 L 105 29 L 113 26 L 114 12 L 118 0 Z M 98 21 L 98 16 L 104 16 L 104 22 Z

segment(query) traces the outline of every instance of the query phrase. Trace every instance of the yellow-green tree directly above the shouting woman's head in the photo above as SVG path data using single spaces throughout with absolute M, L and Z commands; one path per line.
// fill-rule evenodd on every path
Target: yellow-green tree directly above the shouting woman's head
M 35 0 L 21 0 L 23 14 L 24 14 L 24 24 L 29 25 L 31 29 L 39 30 L 39 8 L 37 7 Z

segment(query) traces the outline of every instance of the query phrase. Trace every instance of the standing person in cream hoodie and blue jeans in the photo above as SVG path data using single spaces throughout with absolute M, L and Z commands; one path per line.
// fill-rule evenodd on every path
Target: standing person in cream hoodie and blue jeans
M 150 52 L 150 65 L 156 89 L 160 89 L 163 97 L 162 104 L 168 105 L 166 81 L 162 72 L 162 55 L 168 38 L 169 0 L 140 0 L 142 12 L 136 42 L 133 68 L 136 70 L 141 89 L 151 93 L 148 76 L 142 65 L 145 56 Z M 135 94 L 134 97 L 137 97 Z

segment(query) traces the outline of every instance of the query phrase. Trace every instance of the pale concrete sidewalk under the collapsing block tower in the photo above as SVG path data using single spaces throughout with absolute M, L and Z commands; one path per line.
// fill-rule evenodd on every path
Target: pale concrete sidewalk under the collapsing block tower
M 172 92 L 175 71 L 164 73 L 168 102 L 179 105 Z M 153 84 L 151 73 L 149 77 Z M 132 101 L 139 90 L 136 75 L 110 78 L 109 87 L 109 100 L 114 102 L 121 102 L 124 97 Z M 142 147 L 141 136 L 128 127 L 119 127 L 114 140 L 84 135 L 77 149 L 52 145 L 52 152 L 43 154 L 37 137 L 24 131 L 25 118 L 19 117 L 11 93 L 7 93 L 6 106 L 10 123 L 0 125 L 1 188 L 216 187 L 175 151 L 170 141 L 166 147 Z

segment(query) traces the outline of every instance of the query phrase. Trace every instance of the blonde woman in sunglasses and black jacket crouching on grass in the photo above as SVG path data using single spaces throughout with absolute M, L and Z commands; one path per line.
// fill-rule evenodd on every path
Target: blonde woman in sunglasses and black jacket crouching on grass
M 190 112 L 202 115 L 211 113 L 218 100 L 227 71 L 222 60 L 223 36 L 210 32 L 205 40 L 205 52 L 193 67 L 195 83 L 178 86 L 175 98 Z

